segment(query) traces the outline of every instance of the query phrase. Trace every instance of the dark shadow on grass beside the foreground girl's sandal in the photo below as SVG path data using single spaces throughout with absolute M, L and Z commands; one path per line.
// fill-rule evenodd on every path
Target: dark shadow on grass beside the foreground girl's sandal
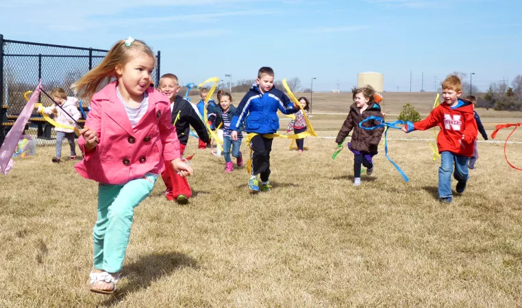
M 196 260 L 184 253 L 166 252 L 144 255 L 139 257 L 138 261 L 123 266 L 122 278 L 127 279 L 127 283 L 121 289 L 116 290 L 114 295 L 105 300 L 102 305 L 112 306 L 123 300 L 127 294 L 149 288 L 152 283 L 180 268 L 198 267 Z

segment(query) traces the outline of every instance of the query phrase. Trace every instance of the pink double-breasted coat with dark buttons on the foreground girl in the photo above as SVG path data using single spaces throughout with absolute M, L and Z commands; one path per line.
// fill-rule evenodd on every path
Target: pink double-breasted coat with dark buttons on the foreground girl
M 79 137 L 84 159 L 75 169 L 80 176 L 103 184 L 126 184 L 145 173 L 160 174 L 164 161 L 180 157 L 169 99 L 152 87 L 147 93 L 149 109 L 134 128 L 116 96 L 116 81 L 92 96 L 85 126 L 97 132 L 99 144 L 85 152 L 85 139 Z

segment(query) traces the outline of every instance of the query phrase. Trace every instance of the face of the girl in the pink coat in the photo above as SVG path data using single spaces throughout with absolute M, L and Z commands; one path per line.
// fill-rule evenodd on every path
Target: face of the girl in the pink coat
M 151 85 L 154 59 L 143 52 L 131 57 L 125 66 L 116 65 L 119 86 L 125 87 L 131 97 L 141 96 Z

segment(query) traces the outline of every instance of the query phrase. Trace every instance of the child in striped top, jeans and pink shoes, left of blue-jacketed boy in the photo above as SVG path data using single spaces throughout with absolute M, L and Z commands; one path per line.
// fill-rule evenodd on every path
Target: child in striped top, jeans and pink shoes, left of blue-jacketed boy
M 223 156 L 225 156 L 225 172 L 230 173 L 234 169 L 234 163 L 230 157 L 230 148 L 232 148 L 232 156 L 237 158 L 238 167 L 243 165 L 243 156 L 241 155 L 241 141 L 243 141 L 243 125 L 239 126 L 237 139 L 232 140 L 232 130 L 230 129 L 230 121 L 236 113 L 236 107 L 232 104 L 232 95 L 224 92 L 219 100 L 218 110 L 216 111 L 216 127 L 223 123 Z

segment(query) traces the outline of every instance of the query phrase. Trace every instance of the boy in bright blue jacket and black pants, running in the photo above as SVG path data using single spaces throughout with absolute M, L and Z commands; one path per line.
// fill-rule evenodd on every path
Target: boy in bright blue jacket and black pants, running
M 258 71 L 256 85 L 243 97 L 230 123 L 231 137 L 236 141 L 240 125 L 246 117 L 246 130 L 250 137 L 250 148 L 253 150 L 252 174 L 248 184 L 251 193 L 270 191 L 272 187 L 269 182 L 273 139 L 271 134 L 279 129 L 277 109 L 288 115 L 297 112 L 299 107 L 274 87 L 272 68 L 262 67 Z M 261 188 L 258 176 L 261 178 Z

